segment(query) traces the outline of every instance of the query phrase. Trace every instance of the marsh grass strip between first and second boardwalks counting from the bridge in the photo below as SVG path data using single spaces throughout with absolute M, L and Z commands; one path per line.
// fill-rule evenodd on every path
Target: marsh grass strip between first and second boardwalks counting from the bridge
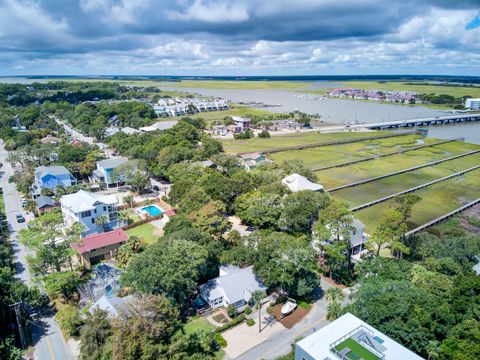
M 303 150 L 289 150 L 267 155 L 275 161 L 302 159 L 309 167 L 319 167 L 359 160 L 364 157 L 385 154 L 402 148 L 417 146 L 418 135 L 361 141 L 351 144 L 334 145 L 327 147 L 308 148 Z M 430 139 L 426 142 L 434 142 Z

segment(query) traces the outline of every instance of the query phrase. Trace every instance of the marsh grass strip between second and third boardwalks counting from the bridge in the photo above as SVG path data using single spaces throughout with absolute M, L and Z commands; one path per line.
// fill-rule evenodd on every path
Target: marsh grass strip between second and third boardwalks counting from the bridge
M 350 166 L 317 171 L 316 174 L 318 181 L 329 189 L 335 186 L 349 184 L 398 170 L 408 169 L 413 166 L 427 164 L 435 160 L 446 159 L 479 148 L 478 145 L 457 141 L 430 148 L 409 151 L 403 154 L 387 156 Z M 332 159 L 334 158 L 332 157 Z M 446 162 L 445 164 L 448 163 L 449 162 Z

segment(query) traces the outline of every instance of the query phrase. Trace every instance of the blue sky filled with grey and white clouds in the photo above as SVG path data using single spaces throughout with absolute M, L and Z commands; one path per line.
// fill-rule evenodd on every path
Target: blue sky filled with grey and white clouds
M 0 0 L 0 75 L 480 76 L 480 0 Z

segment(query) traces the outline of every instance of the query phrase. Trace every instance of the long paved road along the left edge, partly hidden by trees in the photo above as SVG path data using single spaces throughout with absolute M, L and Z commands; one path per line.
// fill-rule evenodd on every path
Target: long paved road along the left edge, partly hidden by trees
M 17 239 L 18 232 L 27 227 L 26 223 L 17 223 L 15 216 L 22 213 L 20 199 L 15 184 L 9 183 L 8 179 L 13 175 L 13 169 L 7 163 L 7 152 L 0 140 L 0 162 L 3 163 L 1 169 L 1 185 L 3 188 L 3 199 L 5 201 L 5 211 L 10 226 L 10 241 L 14 250 L 16 278 L 27 285 L 33 284 L 32 277 L 28 271 L 26 257 L 32 254 L 32 251 L 23 246 Z M 25 215 L 25 214 L 24 214 Z M 28 218 L 28 217 L 27 217 Z M 34 319 L 31 326 L 32 339 L 35 345 L 34 358 L 38 360 L 71 360 L 72 356 L 67 348 L 65 339 L 55 322 L 51 309 L 39 315 Z

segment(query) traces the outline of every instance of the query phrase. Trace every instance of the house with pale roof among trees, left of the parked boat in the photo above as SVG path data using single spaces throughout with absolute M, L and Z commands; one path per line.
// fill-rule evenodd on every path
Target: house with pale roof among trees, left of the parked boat
M 253 273 L 253 266 L 243 269 L 222 266 L 219 273 L 219 277 L 200 286 L 200 296 L 212 309 L 230 304 L 240 309 L 251 301 L 255 291 L 267 290 L 262 280 Z

